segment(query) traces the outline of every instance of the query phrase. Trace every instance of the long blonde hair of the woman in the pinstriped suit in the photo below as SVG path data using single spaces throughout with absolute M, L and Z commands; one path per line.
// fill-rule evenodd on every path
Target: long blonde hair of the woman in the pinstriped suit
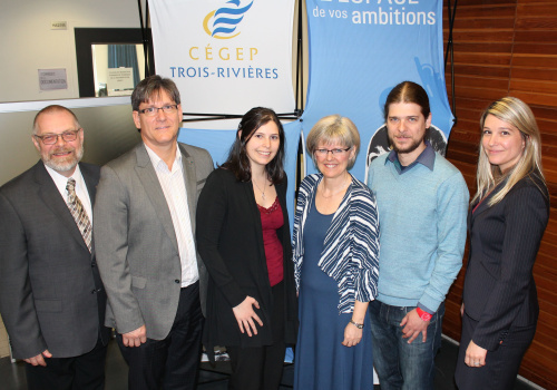
M 505 186 L 494 194 L 489 201 L 489 205 L 492 206 L 502 201 L 510 188 L 521 178 L 528 176 L 532 170 L 535 170 L 544 182 L 545 177 L 541 168 L 541 139 L 539 136 L 539 128 L 530 107 L 522 100 L 510 96 L 494 101 L 481 115 L 481 131 L 483 131 L 483 125 L 488 115 L 492 115 L 516 127 L 525 142 L 525 147 L 518 163 L 508 172 L 501 173 L 498 165 L 491 165 L 489 163 L 486 150 L 483 149 L 483 143 L 480 140 L 478 173 L 476 177 L 478 191 L 471 203 L 481 199 L 492 191 L 495 186 L 507 179 Z

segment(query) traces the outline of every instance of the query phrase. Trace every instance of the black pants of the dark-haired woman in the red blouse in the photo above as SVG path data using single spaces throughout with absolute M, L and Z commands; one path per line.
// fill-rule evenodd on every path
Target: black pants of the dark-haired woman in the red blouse
M 226 347 L 231 357 L 229 390 L 276 390 L 284 365 L 284 282 L 271 287 L 273 308 L 273 344 L 263 347 Z M 263 324 L 265 325 L 265 324 Z

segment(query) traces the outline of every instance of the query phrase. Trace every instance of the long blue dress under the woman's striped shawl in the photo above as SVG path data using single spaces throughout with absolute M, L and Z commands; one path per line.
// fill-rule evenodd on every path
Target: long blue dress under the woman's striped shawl
M 315 202 L 304 227 L 304 260 L 300 276 L 300 330 L 294 361 L 294 389 L 371 390 L 373 360 L 369 313 L 362 341 L 344 347 L 352 314 L 339 314 L 336 282 L 317 265 L 333 214 L 323 215 Z

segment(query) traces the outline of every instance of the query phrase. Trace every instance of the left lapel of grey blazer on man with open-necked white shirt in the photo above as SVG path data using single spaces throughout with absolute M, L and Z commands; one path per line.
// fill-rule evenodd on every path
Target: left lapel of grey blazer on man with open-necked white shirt
M 166 234 L 170 238 L 176 252 L 178 251 L 178 242 L 176 240 L 176 232 L 174 231 L 173 218 L 170 215 L 170 209 L 166 203 L 166 197 L 163 192 L 163 187 L 158 182 L 157 173 L 153 167 L 149 155 L 145 145 L 140 143 L 136 148 L 137 166 L 136 173 L 139 176 L 141 185 L 147 193 L 147 196 L 156 211 L 157 217 L 160 221 Z

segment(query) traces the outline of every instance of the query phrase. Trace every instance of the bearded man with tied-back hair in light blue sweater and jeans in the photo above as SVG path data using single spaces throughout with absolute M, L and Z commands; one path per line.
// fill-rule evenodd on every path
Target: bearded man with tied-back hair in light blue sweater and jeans
M 370 165 L 381 226 L 379 294 L 370 304 L 381 389 L 433 389 L 444 296 L 462 265 L 468 188 L 424 140 L 429 98 L 403 81 L 387 98 L 392 150 Z

